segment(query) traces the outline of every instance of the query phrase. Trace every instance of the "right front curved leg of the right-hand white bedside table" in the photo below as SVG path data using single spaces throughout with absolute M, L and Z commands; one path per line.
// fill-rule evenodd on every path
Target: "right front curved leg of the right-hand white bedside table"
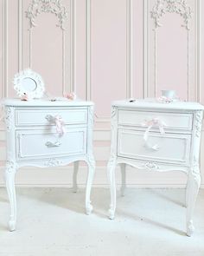
M 187 198 L 187 235 L 194 233 L 193 213 L 194 204 L 201 185 L 201 173 L 199 167 L 193 167 L 188 174 L 188 198 Z

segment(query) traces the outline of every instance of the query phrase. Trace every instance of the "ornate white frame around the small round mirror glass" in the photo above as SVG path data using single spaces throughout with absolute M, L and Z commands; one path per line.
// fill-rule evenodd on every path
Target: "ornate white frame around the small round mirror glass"
M 22 87 L 22 80 L 25 78 L 30 78 L 35 81 L 36 89 L 35 90 L 25 90 Z M 22 97 L 25 93 L 28 95 L 29 99 L 39 99 L 44 95 L 45 86 L 41 78 L 41 75 L 37 74 L 32 69 L 24 69 L 21 72 L 17 73 L 14 76 L 14 89 L 17 92 L 17 95 Z

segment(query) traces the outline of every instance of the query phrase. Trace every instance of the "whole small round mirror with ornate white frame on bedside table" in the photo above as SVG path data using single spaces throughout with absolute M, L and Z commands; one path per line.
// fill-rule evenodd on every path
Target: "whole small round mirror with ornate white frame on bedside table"
M 44 82 L 41 75 L 31 69 L 22 70 L 14 76 L 14 89 L 17 95 L 27 95 L 29 99 L 41 98 L 44 93 Z

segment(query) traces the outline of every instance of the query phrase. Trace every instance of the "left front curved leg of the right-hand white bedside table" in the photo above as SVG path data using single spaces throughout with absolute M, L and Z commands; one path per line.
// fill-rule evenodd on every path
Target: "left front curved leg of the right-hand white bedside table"
M 115 167 L 116 167 L 116 161 L 110 160 L 108 162 L 107 174 L 108 174 L 108 181 L 110 183 L 110 192 L 111 192 L 111 204 L 109 209 L 109 218 L 111 220 L 115 218 L 115 211 L 116 211 Z

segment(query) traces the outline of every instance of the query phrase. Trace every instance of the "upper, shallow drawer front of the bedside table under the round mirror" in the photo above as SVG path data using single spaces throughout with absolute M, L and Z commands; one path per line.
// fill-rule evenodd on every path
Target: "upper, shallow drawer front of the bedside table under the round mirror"
M 66 124 L 84 124 L 87 121 L 86 108 L 18 109 L 16 126 L 54 125 L 53 117 L 56 115 L 60 115 Z

